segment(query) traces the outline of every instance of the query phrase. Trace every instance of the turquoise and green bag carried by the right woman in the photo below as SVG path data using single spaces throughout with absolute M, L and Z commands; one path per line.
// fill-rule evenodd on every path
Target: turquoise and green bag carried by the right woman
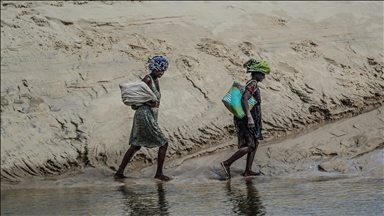
M 245 91 L 245 86 L 240 83 L 234 81 L 228 93 L 221 99 L 224 103 L 224 106 L 237 118 L 244 118 L 245 112 L 243 110 L 243 106 L 241 105 L 241 98 Z M 248 99 L 248 107 L 249 110 L 253 108 L 257 104 L 256 99 L 252 96 Z

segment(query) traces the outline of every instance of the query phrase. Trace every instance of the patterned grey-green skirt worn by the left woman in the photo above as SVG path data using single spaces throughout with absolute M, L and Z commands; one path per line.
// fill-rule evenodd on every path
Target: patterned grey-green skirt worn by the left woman
M 129 144 L 147 148 L 160 147 L 168 142 L 157 124 L 158 108 L 140 106 L 133 117 Z

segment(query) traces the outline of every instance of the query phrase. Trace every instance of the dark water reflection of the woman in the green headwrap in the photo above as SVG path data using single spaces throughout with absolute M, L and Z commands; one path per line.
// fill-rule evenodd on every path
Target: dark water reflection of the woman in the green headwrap
M 265 215 L 265 207 L 252 179 L 246 178 L 245 183 L 246 190 L 244 191 L 231 187 L 231 181 L 227 182 L 227 193 L 234 205 L 233 212 L 241 215 Z

